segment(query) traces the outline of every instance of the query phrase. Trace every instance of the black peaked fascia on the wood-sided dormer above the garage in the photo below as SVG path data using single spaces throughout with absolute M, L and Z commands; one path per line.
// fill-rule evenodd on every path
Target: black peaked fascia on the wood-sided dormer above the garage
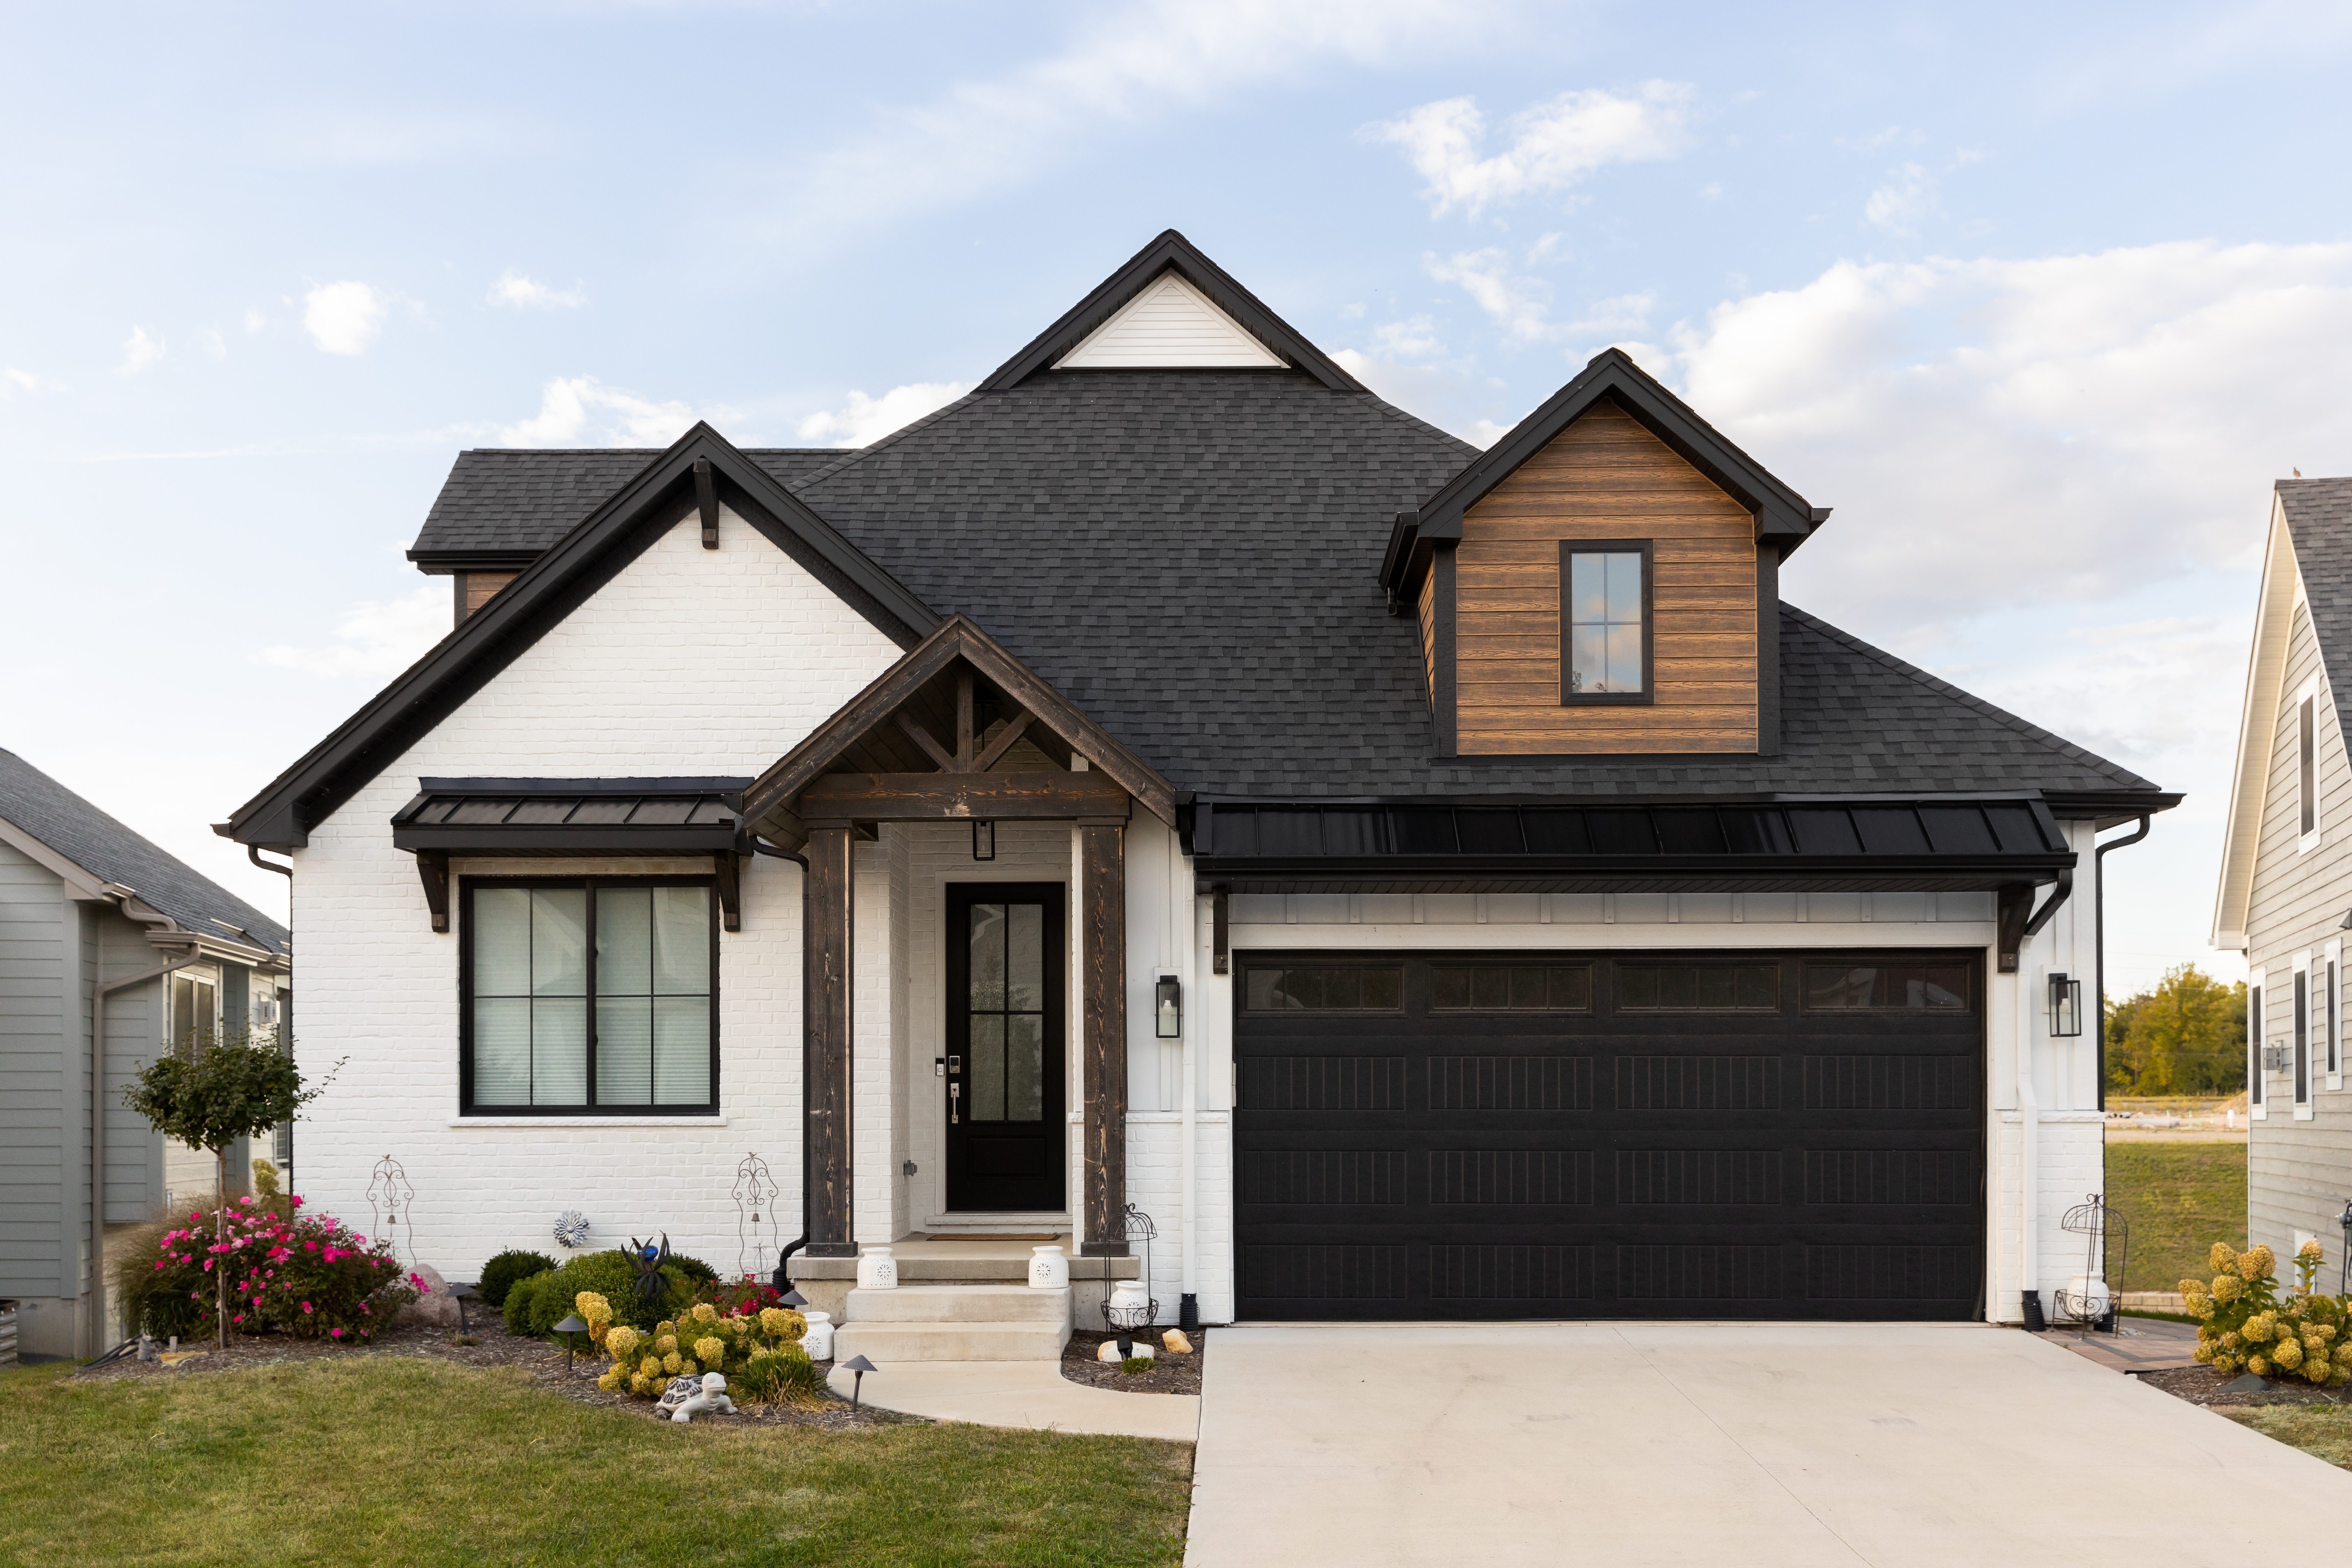
M 1651 435 L 1675 449 L 1698 473 L 1708 475 L 1726 496 L 1755 512 L 1757 541 L 1773 541 L 1780 557 L 1804 543 L 1828 510 L 1813 508 L 1804 496 L 1773 477 L 1762 463 L 1733 447 L 1715 425 L 1698 416 L 1691 404 L 1675 397 L 1644 371 L 1621 348 L 1604 348 L 1585 362 L 1564 388 L 1543 400 L 1534 414 L 1512 425 L 1503 440 L 1486 449 L 1444 489 L 1421 503 L 1421 538 L 1458 541 L 1463 536 L 1463 512 L 1482 501 L 1496 484 L 1508 480 L 1522 463 L 1566 430 L 1578 414 L 1602 397 L 1616 402 L 1637 418 Z M 1406 564 L 1397 567 L 1399 574 Z M 1383 585 L 1402 592 L 1404 581 Z

